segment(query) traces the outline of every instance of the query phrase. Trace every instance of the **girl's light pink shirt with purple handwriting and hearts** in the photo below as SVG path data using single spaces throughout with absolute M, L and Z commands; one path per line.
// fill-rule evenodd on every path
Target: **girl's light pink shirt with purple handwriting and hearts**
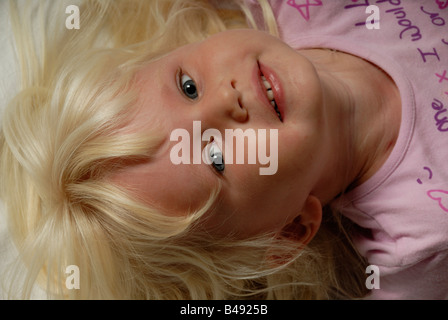
M 392 154 L 335 205 L 371 231 L 355 238 L 379 267 L 380 289 L 370 298 L 448 299 L 448 1 L 270 2 L 293 48 L 351 53 L 397 84 L 402 121 Z M 260 8 L 246 3 L 261 26 Z M 368 5 L 377 6 L 379 17 L 366 13 Z M 367 28 L 375 18 L 379 29 Z

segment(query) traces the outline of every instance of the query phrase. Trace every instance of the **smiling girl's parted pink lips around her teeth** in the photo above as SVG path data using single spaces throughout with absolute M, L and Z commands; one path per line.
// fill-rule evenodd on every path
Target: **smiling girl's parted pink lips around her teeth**
M 269 109 L 274 113 L 275 117 L 278 118 L 277 111 L 271 105 L 271 101 L 269 100 L 267 93 L 266 93 L 266 88 L 263 84 L 263 81 L 261 80 L 262 75 L 266 78 L 266 80 L 271 85 L 271 90 L 274 93 L 274 100 L 275 100 L 277 108 L 280 112 L 281 121 L 283 121 L 285 115 L 284 115 L 284 111 L 283 111 L 283 107 L 282 107 L 282 99 L 283 99 L 282 98 L 282 90 L 281 90 L 281 85 L 278 80 L 278 77 L 274 73 L 273 70 L 271 70 L 270 68 L 266 67 L 265 65 L 263 65 L 259 61 L 257 61 L 256 72 L 255 72 L 255 76 L 257 77 L 256 83 L 258 83 L 257 91 L 259 92 L 259 95 L 261 95 L 261 97 L 263 97 L 262 100 L 263 100 L 264 104 L 267 105 L 269 107 Z

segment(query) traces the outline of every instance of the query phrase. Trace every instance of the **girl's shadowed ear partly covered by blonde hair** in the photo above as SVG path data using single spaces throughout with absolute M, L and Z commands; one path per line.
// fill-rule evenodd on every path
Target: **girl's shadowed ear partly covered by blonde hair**
M 308 244 L 316 235 L 322 222 L 322 203 L 320 200 L 309 195 L 300 214 L 280 232 L 282 237 Z

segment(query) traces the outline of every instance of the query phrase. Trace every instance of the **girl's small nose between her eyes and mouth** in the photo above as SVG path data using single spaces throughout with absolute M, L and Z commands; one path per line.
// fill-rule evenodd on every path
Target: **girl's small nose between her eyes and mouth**
M 202 117 L 211 123 L 231 120 L 244 123 L 248 119 L 247 109 L 242 105 L 242 96 L 235 80 L 222 81 L 207 92 L 208 99 L 201 106 Z

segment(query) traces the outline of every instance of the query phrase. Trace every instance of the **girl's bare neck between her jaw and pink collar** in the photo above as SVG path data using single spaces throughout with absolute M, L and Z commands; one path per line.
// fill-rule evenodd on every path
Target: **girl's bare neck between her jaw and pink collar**
M 401 101 L 393 80 L 371 63 L 342 52 L 305 51 L 324 92 L 329 160 L 315 192 L 326 204 L 385 163 L 398 137 Z

